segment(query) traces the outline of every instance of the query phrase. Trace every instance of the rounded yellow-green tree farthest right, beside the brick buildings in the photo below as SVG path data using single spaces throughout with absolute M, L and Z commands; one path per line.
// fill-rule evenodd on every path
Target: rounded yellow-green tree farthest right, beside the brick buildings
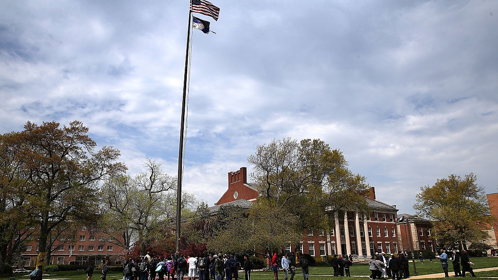
M 477 176 L 473 173 L 465 178 L 452 174 L 437 179 L 432 186 L 420 188 L 413 209 L 432 222 L 434 237 L 440 246 L 454 240 L 460 248 L 467 249 L 468 242 L 480 243 L 487 238 L 487 233 L 481 229 L 491 223 L 492 218 L 484 188 L 476 181 Z M 441 244 L 440 241 L 446 242 Z

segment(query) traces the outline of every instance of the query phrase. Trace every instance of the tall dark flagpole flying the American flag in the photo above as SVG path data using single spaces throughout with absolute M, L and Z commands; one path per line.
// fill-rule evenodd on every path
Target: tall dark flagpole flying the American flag
M 187 71 L 190 45 L 190 23 L 192 21 L 192 11 L 188 13 L 188 33 L 187 33 L 187 51 L 185 53 L 185 74 L 183 76 L 183 100 L 182 100 L 182 120 L 180 124 L 180 147 L 178 149 L 178 186 L 176 190 L 176 251 L 180 252 L 181 236 L 181 202 L 182 202 L 182 175 L 183 175 L 183 135 L 185 133 L 185 103 L 187 99 Z

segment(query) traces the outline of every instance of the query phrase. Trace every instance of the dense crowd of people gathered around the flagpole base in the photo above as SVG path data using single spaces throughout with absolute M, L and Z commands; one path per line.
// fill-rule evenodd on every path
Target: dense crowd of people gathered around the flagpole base
M 245 280 L 250 280 L 252 262 L 248 256 L 241 264 L 233 254 L 183 256 L 175 252 L 168 258 L 153 258 L 147 253 L 124 263 L 123 280 L 183 280 L 185 276 L 188 280 L 238 280 L 240 269 Z

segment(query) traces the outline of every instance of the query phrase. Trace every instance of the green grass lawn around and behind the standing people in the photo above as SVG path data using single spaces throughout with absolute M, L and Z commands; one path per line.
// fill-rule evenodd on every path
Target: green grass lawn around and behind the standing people
M 439 260 L 438 260 L 439 261 Z M 498 268 L 498 258 L 472 258 L 471 261 L 475 263 L 476 265 L 474 266 L 474 269 L 481 269 L 481 268 Z M 414 275 L 413 273 L 413 264 L 409 263 L 410 265 L 410 275 Z M 443 269 L 441 268 L 441 263 L 436 262 L 435 260 L 433 263 L 430 262 L 424 262 L 423 264 L 420 263 L 419 261 L 415 262 L 415 266 L 417 269 L 417 275 L 428 275 L 428 274 L 435 274 L 435 273 L 442 273 Z M 369 280 L 368 276 L 370 276 L 370 270 L 368 264 L 355 264 L 351 267 L 351 275 L 352 276 L 357 276 L 353 278 L 353 280 Z M 317 266 L 317 267 L 310 267 L 309 268 L 309 273 L 310 273 L 310 280 L 347 280 L 348 278 L 346 277 L 332 277 L 330 275 L 333 274 L 332 267 L 330 266 Z M 51 274 L 52 276 L 49 277 L 43 277 L 43 279 L 70 279 L 70 280 L 86 280 L 86 275 L 84 271 L 67 271 L 67 272 L 51 272 L 51 273 L 46 273 L 46 274 Z M 449 266 L 449 275 L 453 276 L 453 266 L 450 264 Z M 486 278 L 486 277 L 498 277 L 498 270 L 494 271 L 488 271 L 488 272 L 478 272 L 476 273 L 477 276 L 481 278 Z M 239 280 L 244 280 L 244 275 L 240 274 Z M 282 271 L 278 272 L 279 279 L 284 278 L 284 274 Z M 363 276 L 363 277 L 358 277 L 358 276 Z M 0 280 L 9 280 L 10 277 L 14 277 L 15 280 L 29 280 L 29 277 L 24 276 L 24 275 L 14 275 L 14 276 L 1 276 Z M 121 272 L 109 272 L 107 275 L 107 278 L 109 280 L 122 280 L 122 273 Z M 251 280 L 273 280 L 273 273 L 272 272 L 261 272 L 261 271 L 253 271 L 251 274 Z M 351 278 L 350 278 L 351 279 Z M 100 280 L 100 272 L 96 271 L 92 280 Z M 302 274 L 301 270 L 298 269 L 296 271 L 296 276 L 294 277 L 294 280 L 302 280 Z

